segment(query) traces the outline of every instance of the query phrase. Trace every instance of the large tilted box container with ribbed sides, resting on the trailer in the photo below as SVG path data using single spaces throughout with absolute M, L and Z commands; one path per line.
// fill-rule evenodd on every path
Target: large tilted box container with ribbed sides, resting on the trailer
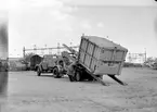
M 128 50 L 108 39 L 82 36 L 78 61 L 95 75 L 120 75 Z

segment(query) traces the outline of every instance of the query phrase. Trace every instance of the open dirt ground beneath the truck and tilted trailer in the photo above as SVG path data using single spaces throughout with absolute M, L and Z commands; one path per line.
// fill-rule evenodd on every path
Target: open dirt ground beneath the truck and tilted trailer
M 3 112 L 157 112 L 157 71 L 123 69 L 118 77 L 128 86 L 107 76 L 103 78 L 109 86 L 11 72 Z

